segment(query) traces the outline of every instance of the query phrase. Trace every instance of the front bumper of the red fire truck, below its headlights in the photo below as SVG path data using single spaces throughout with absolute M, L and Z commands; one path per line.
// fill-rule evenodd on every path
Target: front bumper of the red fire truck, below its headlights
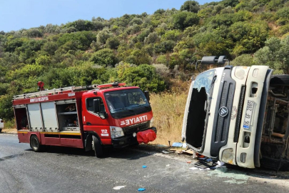
M 151 127 L 141 132 L 146 132 L 148 130 L 152 130 L 156 134 L 156 127 Z M 138 132 L 137 134 L 141 134 L 141 132 Z M 111 142 L 113 144 L 113 147 L 115 148 L 121 148 L 121 147 L 126 147 L 128 145 L 139 144 L 137 137 L 133 136 L 133 134 L 130 134 L 129 136 L 119 137 L 116 139 L 111 139 Z

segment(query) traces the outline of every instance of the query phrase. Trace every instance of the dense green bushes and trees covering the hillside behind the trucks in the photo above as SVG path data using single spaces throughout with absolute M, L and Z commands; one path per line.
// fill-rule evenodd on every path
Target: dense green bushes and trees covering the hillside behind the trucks
M 46 88 L 125 81 L 158 92 L 170 89 L 170 76 L 193 74 L 205 55 L 288 73 L 288 34 L 286 0 L 186 1 L 151 15 L 0 31 L 0 117 L 13 117 L 11 97 L 36 91 L 37 81 Z

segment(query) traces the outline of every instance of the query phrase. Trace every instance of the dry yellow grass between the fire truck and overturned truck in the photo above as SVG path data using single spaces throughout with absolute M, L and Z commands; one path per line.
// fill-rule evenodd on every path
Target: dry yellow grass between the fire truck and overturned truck
M 188 83 L 187 83 L 188 84 Z M 153 109 L 154 126 L 158 130 L 153 144 L 168 145 L 168 141 L 181 142 L 183 127 L 183 113 L 188 97 L 187 89 L 150 94 L 151 107 Z

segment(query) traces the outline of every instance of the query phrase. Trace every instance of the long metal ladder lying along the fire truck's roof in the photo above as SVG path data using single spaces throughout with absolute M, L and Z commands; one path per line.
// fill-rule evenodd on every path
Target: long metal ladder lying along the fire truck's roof
M 69 86 L 69 87 L 64 87 L 64 88 L 59 88 L 59 89 L 50 89 L 50 90 L 44 90 L 44 91 L 36 91 L 36 92 L 31 92 L 31 93 L 26 93 L 26 94 L 19 94 L 13 96 L 14 100 L 17 99 L 29 99 L 29 98 L 34 98 L 34 97 L 44 97 L 49 94 L 59 94 L 63 91 L 83 91 L 87 89 L 96 89 L 96 84 L 93 84 L 91 86 Z

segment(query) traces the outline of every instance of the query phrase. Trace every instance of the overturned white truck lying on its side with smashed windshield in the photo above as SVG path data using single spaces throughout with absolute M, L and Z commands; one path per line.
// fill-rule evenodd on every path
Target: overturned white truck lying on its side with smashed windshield
M 225 64 L 205 56 L 201 64 Z M 224 66 L 193 80 L 182 138 L 199 154 L 240 167 L 289 169 L 289 75 Z

